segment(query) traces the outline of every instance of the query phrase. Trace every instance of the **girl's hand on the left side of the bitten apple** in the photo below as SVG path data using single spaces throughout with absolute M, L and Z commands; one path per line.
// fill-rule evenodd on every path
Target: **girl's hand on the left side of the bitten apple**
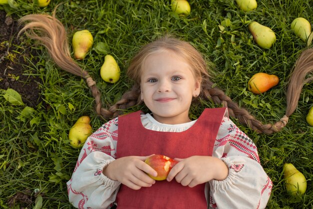
M 117 180 L 132 189 L 137 190 L 142 186 L 149 187 L 155 183 L 155 180 L 150 178 L 146 173 L 156 176 L 157 172 L 144 163 L 147 157 L 148 156 L 121 157 L 108 164 L 102 172 L 108 178 Z

